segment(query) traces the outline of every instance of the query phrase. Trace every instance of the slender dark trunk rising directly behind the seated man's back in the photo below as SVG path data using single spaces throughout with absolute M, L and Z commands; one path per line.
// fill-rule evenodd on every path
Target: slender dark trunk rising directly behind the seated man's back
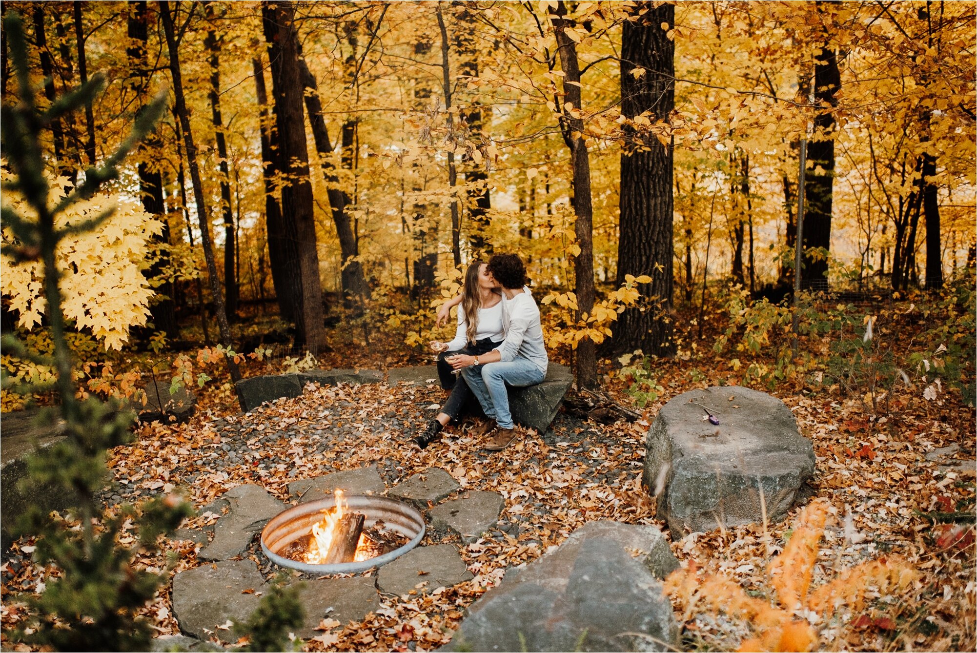
M 571 155 L 573 157 L 573 213 L 576 215 L 574 232 L 579 253 L 573 258 L 573 276 L 576 281 L 576 321 L 590 316 L 594 308 L 594 209 L 590 196 L 590 155 L 586 141 L 583 140 L 583 120 L 579 115 L 580 65 L 576 59 L 576 43 L 565 31 L 572 26 L 565 18 L 567 5 L 560 0 L 556 10 L 560 18 L 553 20 L 556 29 L 556 42 L 560 54 L 560 65 L 564 71 L 563 92 L 571 108 L 565 114 L 569 131 Z M 576 385 L 591 388 L 597 385 L 597 350 L 589 337 L 579 340 L 576 347 Z

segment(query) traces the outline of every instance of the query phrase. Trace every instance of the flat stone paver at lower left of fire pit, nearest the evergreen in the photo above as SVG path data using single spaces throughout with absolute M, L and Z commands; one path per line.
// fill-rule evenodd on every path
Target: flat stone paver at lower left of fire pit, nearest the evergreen
M 264 584 L 251 560 L 225 560 L 180 572 L 173 577 L 173 616 L 184 634 L 207 639 L 213 633 L 234 641 L 236 635 L 218 627 L 229 620 L 246 621 L 258 607 L 260 597 L 255 592 Z

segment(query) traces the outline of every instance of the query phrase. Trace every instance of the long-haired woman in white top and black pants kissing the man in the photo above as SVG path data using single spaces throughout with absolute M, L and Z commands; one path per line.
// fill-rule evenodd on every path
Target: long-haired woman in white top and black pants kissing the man
M 488 274 L 488 266 L 473 261 L 465 273 L 458 306 L 458 327 L 450 342 L 432 341 L 433 351 L 439 352 L 438 374 L 441 385 L 451 394 L 437 417 L 428 422 L 424 432 L 414 442 L 424 449 L 441 439 L 447 422 L 457 419 L 471 397 L 471 390 L 451 362 L 458 356 L 478 358 L 498 347 L 504 339 L 502 328 L 502 300 L 498 283 Z

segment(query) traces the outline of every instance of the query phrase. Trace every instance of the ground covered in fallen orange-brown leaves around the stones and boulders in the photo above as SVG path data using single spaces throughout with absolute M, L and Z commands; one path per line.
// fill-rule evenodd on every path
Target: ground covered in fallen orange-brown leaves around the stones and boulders
M 349 365 L 337 360 L 323 367 Z M 687 368 L 681 361 L 661 364 L 663 392 L 635 423 L 603 425 L 560 414 L 545 434 L 490 455 L 458 428 L 423 452 L 409 443 L 446 398 L 436 385 L 308 386 L 302 397 L 243 415 L 234 414 L 226 396 L 212 393 L 205 397 L 206 410 L 190 423 L 144 425 L 134 444 L 112 452 L 114 485 L 106 502 L 175 491 L 187 493 L 201 507 L 241 483 L 256 483 L 287 500 L 292 480 L 374 462 L 388 487 L 438 466 L 463 489 L 498 492 L 505 497 L 499 527 L 460 548 L 475 575 L 472 581 L 434 594 L 387 597 L 363 623 L 333 626 L 305 643 L 307 650 L 433 649 L 446 643 L 464 608 L 499 583 L 507 569 L 560 544 L 584 522 L 614 519 L 663 527 L 655 518 L 654 499 L 640 487 L 648 425 L 669 398 L 733 380 L 692 382 Z M 618 379 L 610 385 L 622 389 Z M 953 445 L 958 449 L 950 457 L 973 457 L 972 409 L 953 394 L 930 402 L 907 393 L 890 397 L 888 418 L 871 420 L 860 402 L 827 391 L 777 394 L 814 441 L 816 495 L 828 499 L 836 512 L 822 541 L 813 587 L 857 562 L 892 554 L 921 572 L 920 580 L 900 595 L 877 595 L 870 588 L 859 610 L 842 607 L 825 623 L 815 620 L 819 648 L 973 650 L 974 526 L 972 516 L 966 517 L 974 512 L 973 465 L 966 468 L 969 473 L 948 473 L 940 469 L 946 459 L 926 458 L 934 449 Z M 622 405 L 629 404 L 625 393 L 615 395 Z M 789 537 L 792 517 L 766 527 L 725 530 L 717 525 L 673 542 L 672 549 L 684 566 L 694 563 L 735 579 L 752 595 L 768 596 L 766 567 Z M 215 519 L 197 517 L 191 525 Z M 36 591 L 57 574 L 30 563 L 30 544 L 16 544 L 0 567 L 5 646 L 14 645 L 7 631 L 24 616 L 18 592 Z M 190 541 L 168 544 L 178 571 L 199 564 L 198 547 Z M 141 562 L 157 569 L 166 564 L 161 558 Z M 160 633 L 178 631 L 168 587 L 147 616 Z M 746 624 L 721 613 L 695 609 L 677 611 L 676 618 L 685 620 L 687 649 L 735 649 L 750 634 Z M 232 636 L 230 631 L 218 634 Z

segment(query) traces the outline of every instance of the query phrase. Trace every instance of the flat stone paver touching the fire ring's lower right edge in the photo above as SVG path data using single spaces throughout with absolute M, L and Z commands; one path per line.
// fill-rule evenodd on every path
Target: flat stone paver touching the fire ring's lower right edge
M 398 596 L 411 589 L 418 594 L 470 581 L 472 573 L 451 544 L 418 546 L 380 567 L 376 585 L 380 591 Z M 418 588 L 420 584 L 425 584 Z

